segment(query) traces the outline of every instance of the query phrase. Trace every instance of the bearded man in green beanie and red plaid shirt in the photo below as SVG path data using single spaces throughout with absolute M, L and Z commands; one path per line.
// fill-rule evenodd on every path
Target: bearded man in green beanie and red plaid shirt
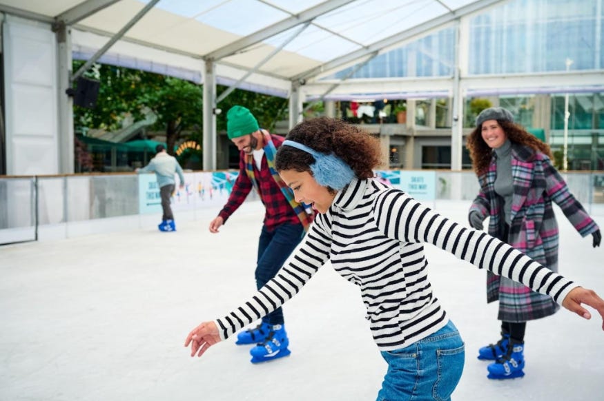
M 313 215 L 296 202 L 291 189 L 275 171 L 275 154 L 284 138 L 262 130 L 246 107 L 235 105 L 226 113 L 226 134 L 240 151 L 239 176 L 226 205 L 210 223 L 217 233 L 255 188 L 266 208 L 255 269 L 257 289 L 269 282 L 300 243 Z M 237 335 L 238 345 L 254 344 L 253 363 L 288 356 L 289 340 L 281 308 L 269 313 L 260 325 Z

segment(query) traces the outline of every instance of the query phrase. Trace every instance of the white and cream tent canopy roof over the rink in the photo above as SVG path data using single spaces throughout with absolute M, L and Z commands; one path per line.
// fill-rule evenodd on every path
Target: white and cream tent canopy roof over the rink
M 65 23 L 76 58 L 88 59 L 149 0 L 0 0 L 0 11 Z M 500 0 L 160 0 L 101 62 L 203 82 L 215 61 L 217 82 L 287 96 L 367 56 L 427 34 Z

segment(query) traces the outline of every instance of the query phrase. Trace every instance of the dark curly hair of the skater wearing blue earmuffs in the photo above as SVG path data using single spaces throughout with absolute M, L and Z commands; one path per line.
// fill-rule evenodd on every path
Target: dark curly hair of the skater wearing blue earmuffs
M 324 154 L 333 152 L 360 179 L 373 177 L 373 168 L 381 163 L 382 151 L 378 138 L 342 120 L 318 117 L 303 121 L 293 127 L 286 139 Z M 275 156 L 277 172 L 293 169 L 312 174 L 310 165 L 313 163 L 315 158 L 311 154 L 291 146 L 280 147 Z

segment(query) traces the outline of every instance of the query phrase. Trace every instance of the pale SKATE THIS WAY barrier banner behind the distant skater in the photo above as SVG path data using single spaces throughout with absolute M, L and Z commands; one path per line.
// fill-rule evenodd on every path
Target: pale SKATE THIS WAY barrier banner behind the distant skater
M 180 179 L 175 174 L 176 186 L 171 198 L 173 211 L 224 205 L 238 175 L 239 171 L 186 172 L 184 187 L 180 188 Z M 155 174 L 139 174 L 139 213 L 162 213 L 162 198 Z

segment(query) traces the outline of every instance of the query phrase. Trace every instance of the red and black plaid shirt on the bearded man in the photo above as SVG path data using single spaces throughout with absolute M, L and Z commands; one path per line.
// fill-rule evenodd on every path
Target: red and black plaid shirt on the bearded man
M 281 136 L 271 134 L 271 139 L 278 149 L 283 141 L 285 140 Z M 233 192 L 228 196 L 226 205 L 220 211 L 218 216 L 226 222 L 235 210 L 244 203 L 245 198 L 248 196 L 254 185 L 246 174 L 245 164 L 245 153 L 242 151 L 239 155 L 239 176 L 235 180 L 233 185 Z M 264 225 L 269 230 L 275 229 L 277 225 L 292 223 L 301 224 L 298 216 L 293 212 L 291 205 L 281 192 L 281 189 L 275 183 L 275 179 L 271 175 L 269 164 L 266 163 L 266 155 L 262 156 L 261 169 L 258 171 L 256 163 L 253 163 L 254 177 L 258 183 L 258 189 L 260 190 L 260 200 L 264 203 L 266 208 L 266 214 L 264 214 Z

